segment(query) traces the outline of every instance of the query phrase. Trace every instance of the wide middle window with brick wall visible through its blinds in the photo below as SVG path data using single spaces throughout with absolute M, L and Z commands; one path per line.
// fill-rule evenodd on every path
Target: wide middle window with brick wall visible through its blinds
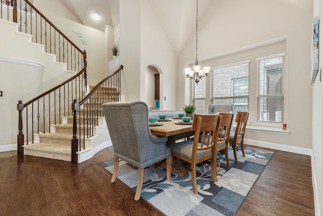
M 212 70 L 212 104 L 234 104 L 237 111 L 248 111 L 249 63 L 239 62 Z

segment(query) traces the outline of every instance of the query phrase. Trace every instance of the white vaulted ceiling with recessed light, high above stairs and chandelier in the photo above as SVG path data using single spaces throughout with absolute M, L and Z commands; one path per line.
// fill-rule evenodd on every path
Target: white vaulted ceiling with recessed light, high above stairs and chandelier
M 119 0 L 59 0 L 83 25 L 104 31 L 106 25 L 119 24 Z M 217 2 L 222 0 L 200 0 L 198 2 L 198 20 L 206 12 L 216 13 Z M 291 7 L 312 11 L 309 0 L 273 0 Z M 196 28 L 196 0 L 148 0 L 151 10 L 169 38 L 174 50 L 181 50 L 188 37 Z M 246 1 L 246 4 L 250 1 Z M 98 12 L 100 17 L 94 18 Z M 230 16 L 230 12 L 228 12 Z M 200 26 L 199 26 L 200 27 Z

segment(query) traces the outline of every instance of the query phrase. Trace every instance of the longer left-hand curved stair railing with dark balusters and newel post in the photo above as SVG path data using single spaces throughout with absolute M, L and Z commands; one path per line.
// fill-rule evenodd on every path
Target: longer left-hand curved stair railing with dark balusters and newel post
M 52 125 L 63 123 L 62 116 L 70 115 L 71 102 L 85 97 L 86 52 L 81 51 L 29 1 L 11 0 L 6 4 L 0 1 L 0 6 L 1 19 L 18 23 L 20 32 L 32 35 L 32 42 L 44 45 L 44 52 L 54 54 L 57 62 L 65 63 L 67 70 L 77 73 L 27 103 L 18 102 L 17 143 L 18 155 L 22 155 L 22 146 L 34 143 L 34 134 L 51 133 Z

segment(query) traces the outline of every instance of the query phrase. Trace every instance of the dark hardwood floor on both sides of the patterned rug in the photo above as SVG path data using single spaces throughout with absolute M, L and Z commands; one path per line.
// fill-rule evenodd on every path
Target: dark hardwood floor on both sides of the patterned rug
M 236 215 L 314 215 L 310 157 L 278 150 Z M 163 215 L 98 162 L 112 147 L 77 165 L 0 153 L 0 215 Z M 212 212 L 210 212 L 212 215 Z

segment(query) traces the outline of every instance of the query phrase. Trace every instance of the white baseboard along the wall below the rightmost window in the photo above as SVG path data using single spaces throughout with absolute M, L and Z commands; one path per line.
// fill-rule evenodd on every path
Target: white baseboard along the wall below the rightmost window
M 312 149 L 296 147 L 296 146 L 288 146 L 288 145 L 277 144 L 277 143 L 268 143 L 268 142 L 262 142 L 262 141 L 257 141 L 257 140 L 244 139 L 244 144 L 268 148 L 268 149 L 276 149 L 276 150 L 280 150 L 280 151 L 287 151 L 287 152 L 292 152 L 292 153 L 297 153 L 297 154 L 304 154 L 304 155 L 311 155 L 312 154 Z

